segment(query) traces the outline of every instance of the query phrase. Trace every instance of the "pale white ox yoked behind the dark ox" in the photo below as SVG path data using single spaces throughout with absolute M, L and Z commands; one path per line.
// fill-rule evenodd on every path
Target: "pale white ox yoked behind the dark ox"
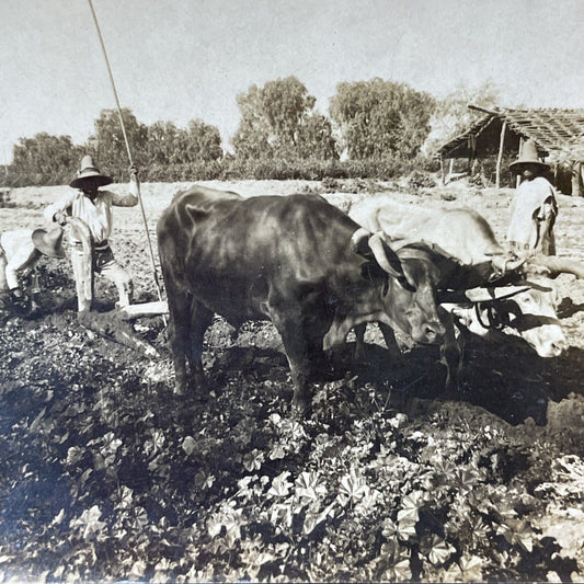
M 423 241 L 460 262 L 461 271 L 440 278 L 443 289 L 466 290 L 465 295 L 440 295 L 447 330 L 443 346 L 447 385 L 456 382 L 454 371 L 459 369 L 461 353 L 461 344 L 455 343 L 453 318 L 461 331 L 483 337 L 493 336 L 494 330 L 519 336 L 541 357 L 557 357 L 566 348 L 556 312 L 557 294 L 542 275 L 556 277 L 565 272 L 582 277 L 581 263 L 542 255 L 512 257 L 496 241 L 489 222 L 467 208 L 428 209 L 379 197 L 354 205 L 350 216 L 364 228 L 383 233 L 393 249 Z M 358 354 L 363 352 L 364 332 L 363 327 L 357 330 Z M 394 343 L 391 331 L 383 334 L 387 343 Z

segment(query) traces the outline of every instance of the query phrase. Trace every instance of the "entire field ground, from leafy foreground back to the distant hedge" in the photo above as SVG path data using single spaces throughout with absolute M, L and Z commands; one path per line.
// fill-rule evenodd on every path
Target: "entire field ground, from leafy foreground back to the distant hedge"
M 245 196 L 323 191 L 205 184 Z M 158 216 L 186 185 L 142 185 L 154 245 Z M 470 206 L 501 240 L 513 194 L 335 187 L 324 196 L 345 210 L 381 194 Z M 41 226 L 67 188 L 14 190 L 0 230 Z M 559 254 L 584 260 L 584 201 L 559 204 Z M 137 301 L 157 299 L 137 208 L 116 209 L 112 247 Z M 584 286 L 574 276 L 554 282 L 570 343 L 561 357 L 476 340 L 458 397 L 445 399 L 437 350 L 398 335 L 403 362 L 388 367 L 369 327 L 367 366 L 350 366 L 350 336 L 347 370 L 317 382 L 314 413 L 299 423 L 270 323 L 234 331 L 216 318 L 209 393 L 179 397 L 160 317 L 136 324 L 160 352 L 142 357 L 79 325 L 68 261 L 39 270 L 41 316 L 0 328 L 0 583 L 584 580 Z M 113 286 L 98 280 L 96 298 L 113 308 Z

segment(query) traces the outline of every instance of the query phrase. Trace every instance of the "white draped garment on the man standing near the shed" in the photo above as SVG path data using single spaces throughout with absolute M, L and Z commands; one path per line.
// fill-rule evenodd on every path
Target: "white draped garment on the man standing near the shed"
M 558 214 L 556 192 L 543 176 L 524 181 L 517 188 L 511 205 L 507 242 L 522 255 L 529 255 L 542 243 L 546 233 L 541 227 L 553 225 Z M 551 222 L 550 222 L 551 221 Z M 553 249 L 553 232 L 550 229 L 550 247 Z M 551 251 L 553 253 L 553 251 Z

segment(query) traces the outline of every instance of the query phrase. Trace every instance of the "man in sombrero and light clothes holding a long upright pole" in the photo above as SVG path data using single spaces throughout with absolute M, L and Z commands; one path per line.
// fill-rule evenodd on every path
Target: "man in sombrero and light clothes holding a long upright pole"
M 112 206 L 133 207 L 138 203 L 138 179 L 136 169 L 130 168 L 129 193 L 117 193 L 100 190 L 113 182 L 93 164 L 90 156 L 81 160 L 81 169 L 69 186 L 77 191 L 68 193 L 61 199 L 45 209 L 45 219 L 66 225 L 70 217 L 80 219 L 89 230 L 93 248 L 92 266 L 96 274 L 101 274 L 113 282 L 119 295 L 117 306 L 127 306 L 131 301 L 133 283 L 127 272 L 115 261 L 107 239 L 112 231 Z M 79 222 L 79 221 L 77 221 Z M 72 224 L 72 222 L 71 222 Z M 79 312 L 91 309 L 92 274 L 88 271 L 88 259 L 83 242 L 78 230 L 71 229 L 71 264 L 77 288 Z

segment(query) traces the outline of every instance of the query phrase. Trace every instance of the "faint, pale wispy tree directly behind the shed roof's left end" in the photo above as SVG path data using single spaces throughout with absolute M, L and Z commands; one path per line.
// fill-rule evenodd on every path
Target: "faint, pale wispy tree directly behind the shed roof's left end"
M 423 151 L 433 154 L 444 144 L 465 131 L 483 114 L 469 110 L 468 105 L 495 107 L 500 103 L 500 89 L 486 81 L 476 88 L 460 85 L 443 100 L 437 101 L 430 121 L 431 131 Z

